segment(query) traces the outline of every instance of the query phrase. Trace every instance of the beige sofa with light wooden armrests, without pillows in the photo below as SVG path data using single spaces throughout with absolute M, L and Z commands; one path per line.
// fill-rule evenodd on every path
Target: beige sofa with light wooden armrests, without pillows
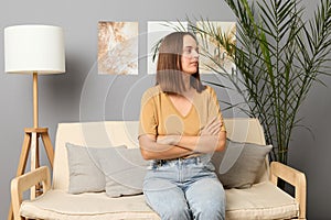
M 231 140 L 265 144 L 263 129 L 256 119 L 225 119 Z M 12 180 L 15 219 L 160 219 L 145 202 L 143 195 L 110 198 L 105 193 L 67 193 L 70 174 L 65 143 L 138 147 L 138 122 L 106 121 L 60 123 L 56 133 L 53 183 L 47 167 Z M 295 186 L 295 198 L 276 187 L 281 177 Z M 24 190 L 42 182 L 44 194 L 22 200 Z M 207 190 L 207 189 L 206 189 Z M 255 184 L 245 189 L 226 189 L 226 219 L 306 219 L 305 174 L 265 160 Z

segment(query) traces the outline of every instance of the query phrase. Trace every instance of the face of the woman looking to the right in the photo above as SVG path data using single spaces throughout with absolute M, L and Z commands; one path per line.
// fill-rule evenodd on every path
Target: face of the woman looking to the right
M 183 37 L 182 70 L 195 74 L 199 68 L 199 48 L 196 41 L 191 35 Z

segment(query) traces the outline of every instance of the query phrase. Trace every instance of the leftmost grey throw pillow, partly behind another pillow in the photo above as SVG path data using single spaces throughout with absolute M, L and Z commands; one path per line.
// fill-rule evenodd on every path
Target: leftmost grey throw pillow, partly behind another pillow
M 108 147 L 125 148 L 126 146 Z M 70 169 L 70 194 L 105 190 L 105 175 L 100 169 L 97 152 L 104 148 L 87 147 L 66 143 L 68 169 Z M 109 150 L 110 151 L 110 150 Z

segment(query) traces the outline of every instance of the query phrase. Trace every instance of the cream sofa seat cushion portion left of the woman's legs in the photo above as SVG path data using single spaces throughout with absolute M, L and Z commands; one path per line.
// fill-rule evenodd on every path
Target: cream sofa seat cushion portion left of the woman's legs
M 109 198 L 106 193 L 71 195 L 63 190 L 23 201 L 20 212 L 29 219 L 50 220 L 160 219 L 146 205 L 143 195 Z

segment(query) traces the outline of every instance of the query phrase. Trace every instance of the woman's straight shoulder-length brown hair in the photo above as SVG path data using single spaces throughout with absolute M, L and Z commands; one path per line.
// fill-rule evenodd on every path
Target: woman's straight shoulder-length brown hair
M 159 57 L 157 66 L 157 85 L 160 85 L 162 91 L 171 94 L 182 94 L 185 90 L 182 75 L 182 53 L 183 38 L 185 35 L 195 36 L 190 32 L 173 32 L 167 35 L 159 47 Z M 201 84 L 199 66 L 195 74 L 191 76 L 191 86 L 197 92 L 204 90 Z

